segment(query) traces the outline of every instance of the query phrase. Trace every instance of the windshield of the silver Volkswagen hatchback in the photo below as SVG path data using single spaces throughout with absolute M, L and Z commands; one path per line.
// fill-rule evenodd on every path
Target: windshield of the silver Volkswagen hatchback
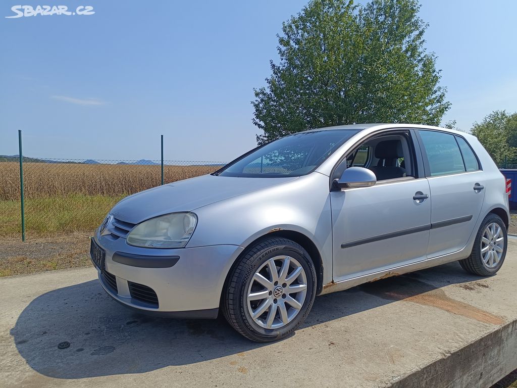
M 330 129 L 295 133 L 256 148 L 230 162 L 216 175 L 268 178 L 306 175 L 359 131 Z

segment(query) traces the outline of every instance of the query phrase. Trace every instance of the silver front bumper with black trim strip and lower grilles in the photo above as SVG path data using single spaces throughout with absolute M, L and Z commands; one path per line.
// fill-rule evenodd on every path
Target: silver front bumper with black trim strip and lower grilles
M 99 281 L 113 299 L 141 312 L 178 318 L 217 316 L 226 275 L 244 249 L 237 245 L 152 249 L 133 247 L 124 238 L 99 234 L 92 238 L 105 250 Z M 121 260 L 122 255 L 132 260 Z M 150 267 L 143 266 L 146 258 Z M 174 264 L 157 267 L 163 258 Z

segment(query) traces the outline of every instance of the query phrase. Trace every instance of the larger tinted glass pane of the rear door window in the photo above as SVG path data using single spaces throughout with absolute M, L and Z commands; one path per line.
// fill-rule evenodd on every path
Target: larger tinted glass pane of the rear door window
M 431 176 L 465 172 L 460 147 L 454 135 L 426 130 L 419 132 L 429 160 Z

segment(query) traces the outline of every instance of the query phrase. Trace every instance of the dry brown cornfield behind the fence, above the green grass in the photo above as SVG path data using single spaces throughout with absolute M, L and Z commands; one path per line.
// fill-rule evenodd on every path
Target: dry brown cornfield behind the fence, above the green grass
M 85 165 L 34 163 L 23 165 L 25 198 L 70 195 L 119 197 L 158 186 L 160 166 Z M 218 166 L 164 166 L 164 182 L 170 183 L 214 172 Z M 20 167 L 0 162 L 0 200 L 20 199 Z

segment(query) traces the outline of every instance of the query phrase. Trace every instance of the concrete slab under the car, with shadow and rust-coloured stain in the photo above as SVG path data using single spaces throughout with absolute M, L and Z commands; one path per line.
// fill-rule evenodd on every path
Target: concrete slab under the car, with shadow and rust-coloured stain
M 135 314 L 93 268 L 2 278 L 0 385 L 488 387 L 517 368 L 516 286 L 510 240 L 496 276 L 451 263 L 318 297 L 261 345 L 222 319 Z

